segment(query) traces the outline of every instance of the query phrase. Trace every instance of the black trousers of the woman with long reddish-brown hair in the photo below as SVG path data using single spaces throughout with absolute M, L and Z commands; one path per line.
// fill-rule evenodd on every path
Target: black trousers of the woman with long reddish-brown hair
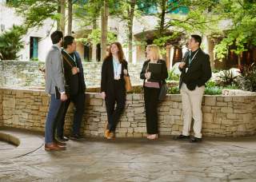
M 107 129 L 114 132 L 126 105 L 126 89 L 121 81 L 114 81 L 114 93 L 106 93 L 106 113 L 108 119 Z M 116 108 L 114 108 L 117 103 Z

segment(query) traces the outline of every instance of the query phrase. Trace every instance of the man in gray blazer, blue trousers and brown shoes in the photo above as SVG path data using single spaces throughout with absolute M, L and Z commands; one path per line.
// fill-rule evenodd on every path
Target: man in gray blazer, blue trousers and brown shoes
M 58 121 L 56 117 L 62 114 L 62 105 L 67 99 L 61 53 L 63 34 L 57 30 L 50 35 L 50 38 L 53 45 L 46 56 L 46 93 L 50 94 L 50 105 L 45 127 L 46 151 L 65 149 L 65 144 L 54 140 L 54 133 Z M 60 98 L 56 97 L 56 91 L 60 93 Z

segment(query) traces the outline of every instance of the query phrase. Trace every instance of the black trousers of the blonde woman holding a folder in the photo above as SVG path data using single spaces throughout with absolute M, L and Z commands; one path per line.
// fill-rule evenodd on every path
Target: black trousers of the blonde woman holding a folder
M 160 89 L 144 87 L 144 101 L 146 109 L 146 132 L 158 133 L 158 97 Z

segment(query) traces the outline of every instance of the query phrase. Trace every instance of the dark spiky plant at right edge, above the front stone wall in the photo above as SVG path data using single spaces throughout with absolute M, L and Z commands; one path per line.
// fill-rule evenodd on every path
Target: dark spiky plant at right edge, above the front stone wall
M 238 76 L 238 85 L 241 89 L 256 92 L 256 65 L 244 67 Z

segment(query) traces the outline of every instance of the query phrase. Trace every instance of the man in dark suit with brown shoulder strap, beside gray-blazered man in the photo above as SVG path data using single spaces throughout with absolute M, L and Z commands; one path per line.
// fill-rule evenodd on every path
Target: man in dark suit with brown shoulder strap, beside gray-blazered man
M 73 130 L 70 136 L 71 139 L 80 138 L 80 127 L 82 115 L 85 107 L 85 90 L 86 84 L 83 75 L 82 61 L 76 50 L 76 42 L 74 37 L 66 36 L 64 38 L 64 49 L 62 49 L 64 76 L 66 85 L 68 85 L 69 98 L 65 102 L 64 114 L 58 122 L 58 139 L 66 140 L 63 136 L 63 126 L 66 116 L 66 111 L 70 105 L 70 101 L 74 103 L 74 121 Z

